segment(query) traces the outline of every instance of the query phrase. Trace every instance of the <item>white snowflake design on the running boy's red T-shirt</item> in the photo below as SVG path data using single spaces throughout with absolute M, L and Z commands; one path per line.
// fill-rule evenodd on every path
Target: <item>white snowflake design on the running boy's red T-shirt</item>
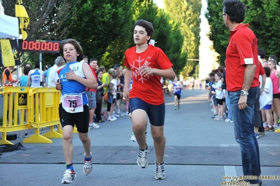
M 146 59 L 141 59 L 141 57 L 139 57 L 139 59 L 135 59 L 133 61 L 133 63 L 131 64 L 131 71 L 133 71 L 132 75 L 133 75 L 133 77 L 135 77 L 135 80 L 138 80 L 138 81 L 141 81 L 142 83 L 144 83 L 144 80 L 148 80 L 149 76 L 153 76 L 153 75 L 148 75 L 148 76 L 144 77 L 140 73 L 141 67 L 149 66 L 149 64 L 151 64 L 151 62 L 148 62 Z

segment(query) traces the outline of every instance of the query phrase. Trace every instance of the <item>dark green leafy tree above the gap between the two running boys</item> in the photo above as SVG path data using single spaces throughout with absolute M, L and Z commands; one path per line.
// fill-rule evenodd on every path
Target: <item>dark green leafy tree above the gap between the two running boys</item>
M 65 22 L 72 25 L 66 37 L 79 41 L 88 57 L 101 59 L 108 45 L 126 33 L 123 25 L 130 20 L 126 17 L 129 4 L 113 0 L 80 0 L 76 4 L 74 14 Z

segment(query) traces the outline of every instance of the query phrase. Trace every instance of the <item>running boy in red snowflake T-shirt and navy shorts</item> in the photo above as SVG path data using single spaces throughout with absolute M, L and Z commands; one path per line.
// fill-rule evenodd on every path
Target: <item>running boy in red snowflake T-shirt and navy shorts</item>
M 164 52 L 149 41 L 154 33 L 151 22 L 138 20 L 133 25 L 133 39 L 135 46 L 125 52 L 124 66 L 126 66 L 124 98 L 131 107 L 131 120 L 133 134 L 138 142 L 137 163 L 140 168 L 146 168 L 147 143 L 145 131 L 147 128 L 147 116 L 149 117 L 154 149 L 156 152 L 157 180 L 165 178 L 164 173 L 164 148 L 166 138 L 164 136 L 165 103 L 161 89 L 161 77 L 175 78 L 172 69 L 173 64 Z M 133 86 L 128 91 L 133 78 Z

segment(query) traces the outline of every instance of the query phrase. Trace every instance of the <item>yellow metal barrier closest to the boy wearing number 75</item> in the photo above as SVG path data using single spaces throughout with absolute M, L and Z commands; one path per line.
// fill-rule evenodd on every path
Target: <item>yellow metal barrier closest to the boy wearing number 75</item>
M 61 127 L 54 130 L 54 125 L 60 124 L 58 106 L 60 92 L 55 88 L 34 88 L 29 90 L 29 117 L 35 134 L 25 138 L 24 143 L 52 143 L 49 138 L 62 138 Z M 51 127 L 50 131 L 40 134 L 41 127 Z

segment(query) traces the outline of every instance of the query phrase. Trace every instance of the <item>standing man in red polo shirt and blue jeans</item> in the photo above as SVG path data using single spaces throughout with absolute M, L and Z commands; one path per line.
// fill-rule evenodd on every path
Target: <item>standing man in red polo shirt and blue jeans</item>
M 248 24 L 243 24 L 246 13 L 239 0 L 223 2 L 222 19 L 230 30 L 226 51 L 227 91 L 234 121 L 234 136 L 241 149 L 244 176 L 260 176 L 260 154 L 254 133 L 254 108 L 260 97 L 258 80 L 258 39 Z M 256 67 L 257 66 L 257 67 Z M 251 177 L 248 177 L 251 178 Z M 260 185 L 260 180 L 245 179 L 249 185 Z

